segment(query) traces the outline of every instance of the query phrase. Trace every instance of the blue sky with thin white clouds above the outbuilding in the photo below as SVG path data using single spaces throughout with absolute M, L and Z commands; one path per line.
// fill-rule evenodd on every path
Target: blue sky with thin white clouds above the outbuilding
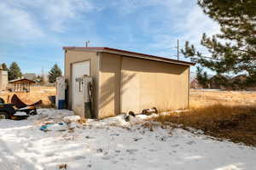
M 121 48 L 176 58 L 177 39 L 200 43 L 218 25 L 195 0 L 2 0 L 0 62 L 40 74 L 57 63 L 62 46 Z

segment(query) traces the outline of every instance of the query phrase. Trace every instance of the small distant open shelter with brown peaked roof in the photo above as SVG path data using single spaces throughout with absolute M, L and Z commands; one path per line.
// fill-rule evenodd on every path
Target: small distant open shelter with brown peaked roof
M 26 79 L 26 78 L 20 78 L 20 79 L 15 79 L 12 81 L 9 81 L 9 83 L 13 84 L 12 90 L 14 92 L 30 92 L 30 86 L 34 83 L 35 81 Z

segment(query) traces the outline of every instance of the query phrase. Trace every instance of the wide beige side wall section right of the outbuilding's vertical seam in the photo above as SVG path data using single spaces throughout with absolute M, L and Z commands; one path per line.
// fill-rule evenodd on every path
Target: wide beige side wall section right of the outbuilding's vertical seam
M 160 111 L 189 105 L 189 66 L 146 59 L 122 59 L 121 112 Z

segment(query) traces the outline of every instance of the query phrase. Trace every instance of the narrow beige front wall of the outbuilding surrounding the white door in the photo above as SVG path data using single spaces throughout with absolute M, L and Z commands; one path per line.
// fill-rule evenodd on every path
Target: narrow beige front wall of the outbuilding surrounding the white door
M 93 78 L 95 87 L 95 112 L 98 111 L 98 84 L 99 84 L 99 59 L 96 52 L 84 52 L 77 50 L 67 50 L 65 54 L 65 79 L 68 82 L 68 109 L 72 109 L 72 64 L 90 60 L 90 76 Z

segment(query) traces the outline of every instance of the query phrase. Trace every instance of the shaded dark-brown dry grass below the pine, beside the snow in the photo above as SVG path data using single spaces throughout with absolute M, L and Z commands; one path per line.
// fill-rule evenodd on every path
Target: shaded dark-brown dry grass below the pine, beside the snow
M 159 116 L 154 121 L 193 127 L 218 139 L 256 146 L 256 105 L 209 105 Z

